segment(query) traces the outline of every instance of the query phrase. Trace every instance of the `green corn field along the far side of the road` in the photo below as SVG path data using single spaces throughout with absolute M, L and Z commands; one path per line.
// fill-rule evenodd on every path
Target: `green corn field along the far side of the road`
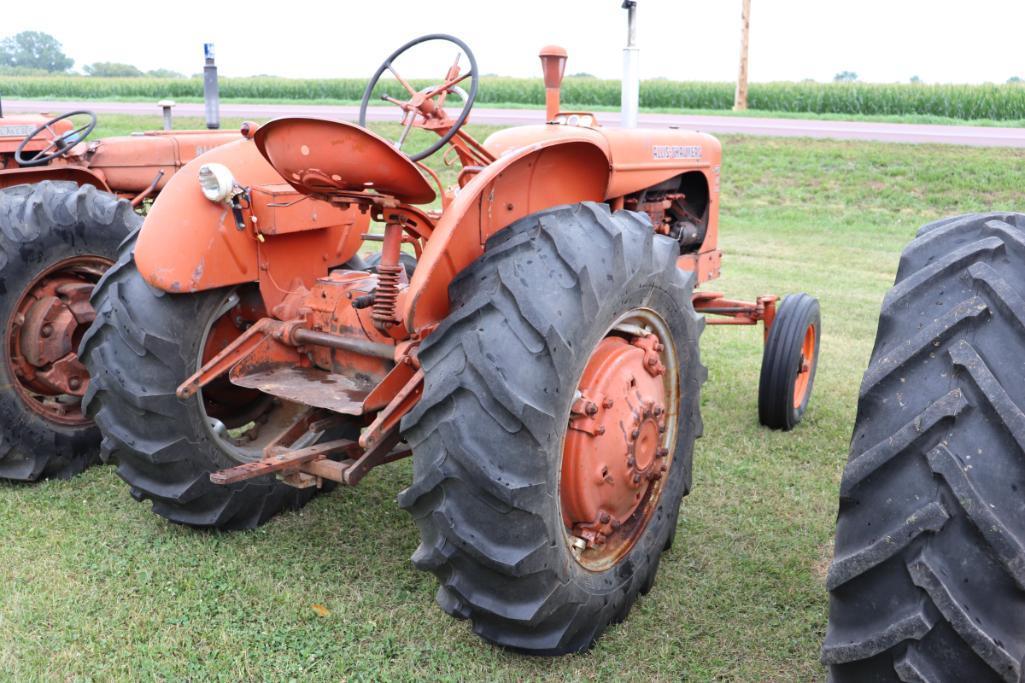
M 273 77 L 221 78 L 220 96 L 227 99 L 336 99 L 359 101 L 362 79 L 287 79 Z M 432 81 L 413 81 L 416 87 Z M 401 95 L 394 83 L 379 92 Z M 394 91 L 392 91 L 394 90 Z M 732 83 L 645 81 L 641 106 L 659 109 L 728 110 L 733 106 Z M 87 78 L 3 77 L 0 96 L 58 98 L 201 97 L 199 78 Z M 485 77 L 478 102 L 485 105 L 544 104 L 539 79 Z M 619 81 L 567 78 L 563 103 L 569 107 L 619 105 Z M 1025 119 L 1025 85 L 925 85 L 873 83 L 752 83 L 748 94 L 752 110 L 815 114 L 930 115 L 953 119 Z

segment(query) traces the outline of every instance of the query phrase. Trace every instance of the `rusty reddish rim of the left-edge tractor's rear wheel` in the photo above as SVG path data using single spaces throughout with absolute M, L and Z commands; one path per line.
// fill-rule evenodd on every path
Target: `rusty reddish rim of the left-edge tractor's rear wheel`
M 82 397 L 89 373 L 78 345 L 96 317 L 92 288 L 113 262 L 80 255 L 39 273 L 22 291 L 7 321 L 7 367 L 22 402 L 44 418 L 87 427 Z

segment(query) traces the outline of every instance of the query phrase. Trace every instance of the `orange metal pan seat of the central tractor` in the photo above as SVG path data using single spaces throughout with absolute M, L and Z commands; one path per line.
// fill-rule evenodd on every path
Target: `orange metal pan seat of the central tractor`
M 253 142 L 274 169 L 305 195 L 372 190 L 406 204 L 429 204 L 437 196 L 406 155 L 353 123 L 275 119 L 256 130 Z

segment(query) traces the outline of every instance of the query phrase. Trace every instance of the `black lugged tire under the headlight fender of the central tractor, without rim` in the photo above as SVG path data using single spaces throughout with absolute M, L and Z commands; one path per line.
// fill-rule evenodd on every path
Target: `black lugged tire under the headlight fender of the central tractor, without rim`
M 316 488 L 272 475 L 210 482 L 211 472 L 240 463 L 212 437 L 199 397 L 179 401 L 174 392 L 196 371 L 206 325 L 227 291 L 155 289 L 135 269 L 133 247 L 123 246 L 96 286 L 96 320 L 81 346 L 91 375 L 85 409 L 104 432 L 104 457 L 117 464 L 135 499 L 152 500 L 156 514 L 178 524 L 247 529 L 302 507 Z

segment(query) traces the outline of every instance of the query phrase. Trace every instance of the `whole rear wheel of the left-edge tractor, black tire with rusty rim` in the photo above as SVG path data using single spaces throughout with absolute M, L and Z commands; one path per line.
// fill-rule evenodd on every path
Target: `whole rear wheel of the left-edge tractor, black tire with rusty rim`
M 141 223 L 92 186 L 44 180 L 0 190 L 0 478 L 67 479 L 94 463 L 99 430 L 81 409 L 77 361 L 89 291 Z

